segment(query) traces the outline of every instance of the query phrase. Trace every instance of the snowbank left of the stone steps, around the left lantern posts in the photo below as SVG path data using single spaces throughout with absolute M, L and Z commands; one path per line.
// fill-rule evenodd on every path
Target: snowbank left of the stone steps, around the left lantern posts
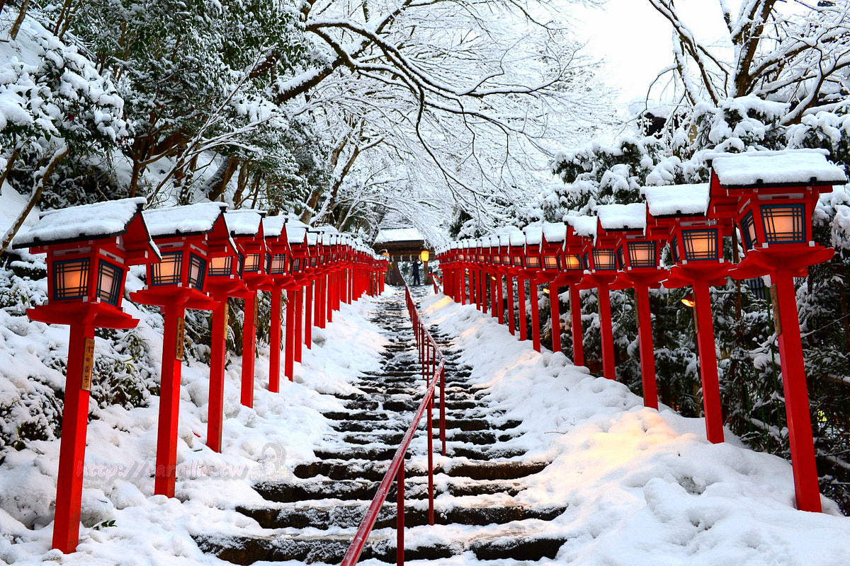
M 43 280 L 30 282 L 43 287 Z M 128 285 L 141 283 L 132 275 Z M 40 289 L 43 295 L 44 289 Z M 36 293 L 38 294 L 38 293 Z M 314 328 L 313 349 L 303 349 L 295 381 L 283 378 L 280 393 L 268 391 L 269 347 L 258 345 L 254 408 L 240 404 L 241 359 L 229 356 L 224 385 L 224 447 L 207 448 L 209 367 L 190 361 L 182 374 L 178 428 L 176 498 L 154 496 L 158 401 L 150 406 L 93 409 L 88 425 L 83 479 L 82 523 L 77 552 L 50 550 L 59 440 L 31 441 L 0 457 L 0 564 L 15 566 L 59 563 L 162 566 L 224 564 L 203 554 L 192 535 L 258 525 L 235 511 L 238 504 L 261 502 L 250 489 L 261 479 L 286 479 L 299 462 L 314 460 L 330 431 L 321 412 L 343 410 L 333 393 L 355 391 L 351 382 L 361 372 L 377 370 L 385 343 L 366 320 L 373 301 L 364 297 L 342 305 L 326 329 Z M 161 316 L 125 301 L 141 318 L 138 333 L 161 358 Z M 23 310 L 0 309 L 0 395 L 38 395 L 38 387 L 64 387 L 62 373 L 45 365 L 67 356 L 68 328 L 30 322 Z M 95 356 L 107 356 L 98 338 Z M 128 356 L 124 356 L 128 357 Z M 158 383 L 156 367 L 147 368 Z M 34 379 L 36 376 L 37 379 Z M 58 416 L 57 416 L 58 417 Z M 15 415 L 2 415 L 3 426 L 15 426 Z M 21 416 L 21 421 L 23 421 Z

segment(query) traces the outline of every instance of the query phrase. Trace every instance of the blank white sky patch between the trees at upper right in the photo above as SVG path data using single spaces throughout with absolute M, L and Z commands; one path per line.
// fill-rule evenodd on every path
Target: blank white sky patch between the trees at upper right
M 722 36 L 716 0 L 678 0 L 676 5 L 700 39 Z M 658 71 L 672 63 L 671 25 L 647 0 L 609 0 L 605 8 L 574 14 L 583 22 L 588 48 L 608 59 L 609 81 L 621 89 L 622 103 L 643 98 Z

